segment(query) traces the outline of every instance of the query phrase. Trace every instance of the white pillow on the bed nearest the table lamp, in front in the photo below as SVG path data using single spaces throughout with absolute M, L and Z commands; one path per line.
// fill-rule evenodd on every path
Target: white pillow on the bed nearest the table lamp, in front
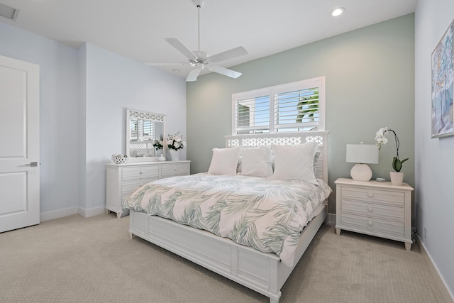
M 275 145 L 275 172 L 272 178 L 317 183 L 314 156 L 318 148 L 319 143 L 316 142 L 296 146 Z

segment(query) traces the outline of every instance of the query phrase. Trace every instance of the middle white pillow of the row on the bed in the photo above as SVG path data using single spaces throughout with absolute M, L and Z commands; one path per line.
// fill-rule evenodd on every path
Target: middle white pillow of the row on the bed
M 241 148 L 241 175 L 270 177 L 272 175 L 272 151 L 269 146 Z

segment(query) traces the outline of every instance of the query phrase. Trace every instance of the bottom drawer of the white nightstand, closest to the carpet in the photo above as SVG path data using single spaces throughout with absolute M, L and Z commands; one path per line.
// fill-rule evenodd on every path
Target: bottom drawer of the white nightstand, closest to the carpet
M 388 221 L 384 219 L 343 214 L 341 216 L 343 228 L 353 228 L 355 231 L 374 234 L 375 236 L 404 237 L 404 222 Z

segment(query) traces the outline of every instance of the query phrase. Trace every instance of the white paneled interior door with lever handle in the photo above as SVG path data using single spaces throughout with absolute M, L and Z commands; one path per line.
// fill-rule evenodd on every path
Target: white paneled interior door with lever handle
M 0 56 L 0 233 L 40 223 L 39 66 Z

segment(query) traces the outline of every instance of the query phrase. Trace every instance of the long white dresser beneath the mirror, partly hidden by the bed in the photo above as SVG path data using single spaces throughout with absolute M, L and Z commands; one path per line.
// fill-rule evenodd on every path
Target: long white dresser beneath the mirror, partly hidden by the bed
M 191 161 L 106 164 L 106 212 L 122 214 L 121 204 L 135 189 L 154 180 L 189 175 Z

